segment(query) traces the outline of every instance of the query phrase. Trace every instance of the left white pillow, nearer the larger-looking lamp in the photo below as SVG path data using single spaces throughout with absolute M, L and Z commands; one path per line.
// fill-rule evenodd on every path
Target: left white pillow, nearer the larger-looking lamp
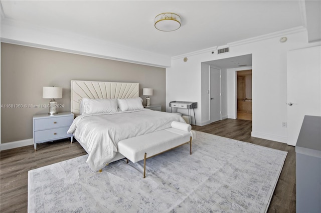
M 82 98 L 82 114 L 111 113 L 118 111 L 117 99 Z

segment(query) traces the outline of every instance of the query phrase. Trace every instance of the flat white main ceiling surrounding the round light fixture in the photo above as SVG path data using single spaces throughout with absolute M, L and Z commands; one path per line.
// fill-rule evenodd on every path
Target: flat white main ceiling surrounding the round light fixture
M 1 0 L 2 19 L 80 34 L 108 43 L 177 56 L 305 26 L 300 0 Z M 181 16 L 176 31 L 158 31 L 154 17 Z

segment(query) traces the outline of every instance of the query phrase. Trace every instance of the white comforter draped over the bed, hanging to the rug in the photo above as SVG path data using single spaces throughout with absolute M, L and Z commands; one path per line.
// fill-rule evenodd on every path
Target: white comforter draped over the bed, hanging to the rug
M 85 114 L 74 119 L 68 133 L 87 151 L 91 170 L 98 171 L 115 156 L 118 141 L 169 128 L 173 120 L 185 123 L 180 115 L 151 109 Z

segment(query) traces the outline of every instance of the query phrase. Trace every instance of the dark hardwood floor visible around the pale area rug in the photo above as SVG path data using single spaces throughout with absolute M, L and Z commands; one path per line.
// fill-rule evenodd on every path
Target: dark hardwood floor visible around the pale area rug
M 251 137 L 252 121 L 224 119 L 205 126 L 193 126 L 211 134 L 287 151 L 284 166 L 268 212 L 295 212 L 295 148 L 285 143 Z M 42 143 L 1 151 L 0 212 L 27 212 L 28 170 L 86 154 L 78 142 Z

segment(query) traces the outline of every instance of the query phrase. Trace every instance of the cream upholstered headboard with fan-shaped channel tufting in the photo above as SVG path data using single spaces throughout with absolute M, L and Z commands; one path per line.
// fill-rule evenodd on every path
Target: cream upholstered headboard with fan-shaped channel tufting
M 83 97 L 92 99 L 139 97 L 139 83 L 71 80 L 70 96 L 70 110 L 79 115 L 79 100 Z

